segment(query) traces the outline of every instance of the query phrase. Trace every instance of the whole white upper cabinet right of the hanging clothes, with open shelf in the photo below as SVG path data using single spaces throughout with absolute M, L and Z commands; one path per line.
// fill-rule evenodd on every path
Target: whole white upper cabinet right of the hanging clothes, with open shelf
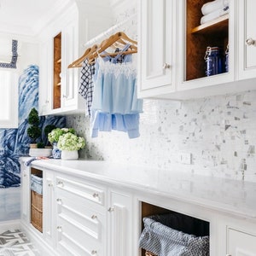
M 256 3 L 230 0 L 206 20 L 208 2 L 139 1 L 138 96 L 183 100 L 256 89 Z M 211 62 L 214 49 L 221 65 Z

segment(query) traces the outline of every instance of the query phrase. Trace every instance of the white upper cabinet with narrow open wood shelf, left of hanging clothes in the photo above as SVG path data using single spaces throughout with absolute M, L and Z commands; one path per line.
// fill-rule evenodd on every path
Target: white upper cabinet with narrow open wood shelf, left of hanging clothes
M 76 6 L 44 32 L 40 44 L 39 113 L 72 113 L 84 108 L 79 96 L 79 69 L 67 66 L 79 56 L 79 13 Z

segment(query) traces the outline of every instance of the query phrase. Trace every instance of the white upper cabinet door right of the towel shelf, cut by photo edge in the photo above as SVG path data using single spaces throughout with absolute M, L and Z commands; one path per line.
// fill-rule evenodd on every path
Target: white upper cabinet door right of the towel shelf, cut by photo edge
M 256 77 L 256 1 L 239 0 L 239 79 Z

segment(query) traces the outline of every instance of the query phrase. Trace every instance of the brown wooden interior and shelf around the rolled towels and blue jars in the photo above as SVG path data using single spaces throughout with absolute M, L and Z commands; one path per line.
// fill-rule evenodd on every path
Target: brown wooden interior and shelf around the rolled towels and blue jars
M 207 46 L 218 46 L 222 54 L 229 44 L 229 15 L 200 25 L 201 7 L 208 0 L 187 0 L 186 5 L 186 72 L 184 80 L 206 77 L 204 56 Z M 200 25 L 200 26 L 199 26 Z

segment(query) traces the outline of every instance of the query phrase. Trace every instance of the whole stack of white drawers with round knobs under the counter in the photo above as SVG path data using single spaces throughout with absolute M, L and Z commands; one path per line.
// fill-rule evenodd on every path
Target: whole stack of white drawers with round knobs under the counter
M 106 255 L 104 189 L 57 176 L 56 249 L 61 255 Z

